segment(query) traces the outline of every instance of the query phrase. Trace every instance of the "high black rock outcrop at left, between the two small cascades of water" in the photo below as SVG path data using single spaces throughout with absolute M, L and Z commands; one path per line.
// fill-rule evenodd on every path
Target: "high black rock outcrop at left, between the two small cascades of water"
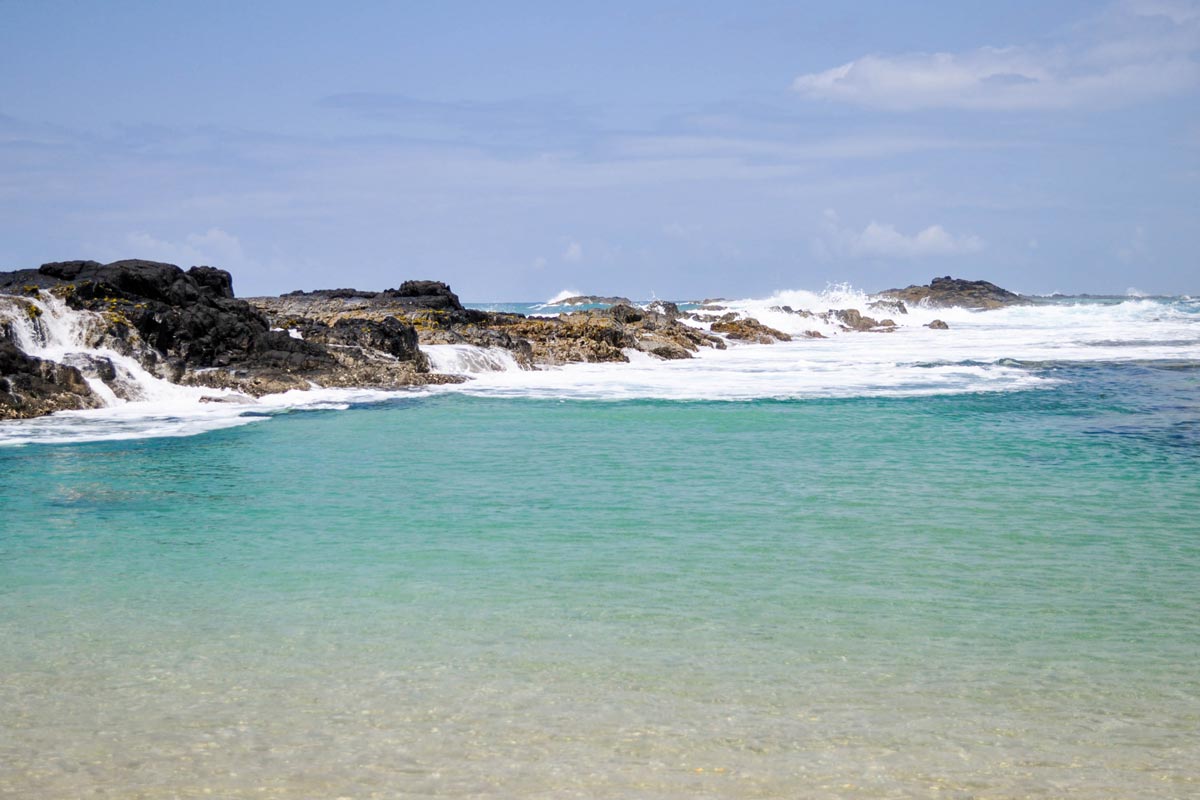
M 446 380 L 428 374 L 410 325 L 386 318 L 332 325 L 305 320 L 304 332 L 292 335 L 234 297 L 229 273 L 210 266 L 184 271 L 144 260 L 58 261 L 0 272 L 0 294 L 38 291 L 49 291 L 74 311 L 91 312 L 94 330 L 86 331 L 80 347 L 110 348 L 174 383 L 258 396 L 314 383 L 397 387 Z M 409 308 L 462 308 L 454 293 L 436 282 L 409 282 L 379 294 Z M 102 365 L 90 366 L 103 379 Z M 10 367 L 16 369 L 12 359 L 2 373 L 6 379 Z M 29 387 L 24 396 L 49 398 L 50 384 L 71 385 L 70 372 L 50 375 L 47 369 L 28 366 L 25 373 L 37 372 L 43 383 L 22 383 Z M 64 407 L 68 401 L 55 402 Z

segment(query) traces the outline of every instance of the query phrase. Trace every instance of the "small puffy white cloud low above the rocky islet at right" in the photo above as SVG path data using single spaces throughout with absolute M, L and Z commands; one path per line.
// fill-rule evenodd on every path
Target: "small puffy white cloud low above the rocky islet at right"
M 978 253 L 984 241 L 974 235 L 953 235 L 942 225 L 929 225 L 914 234 L 904 234 L 895 225 L 875 222 L 862 230 L 844 227 L 834 211 L 826 211 L 821 236 L 812 249 L 829 258 L 930 258 Z

